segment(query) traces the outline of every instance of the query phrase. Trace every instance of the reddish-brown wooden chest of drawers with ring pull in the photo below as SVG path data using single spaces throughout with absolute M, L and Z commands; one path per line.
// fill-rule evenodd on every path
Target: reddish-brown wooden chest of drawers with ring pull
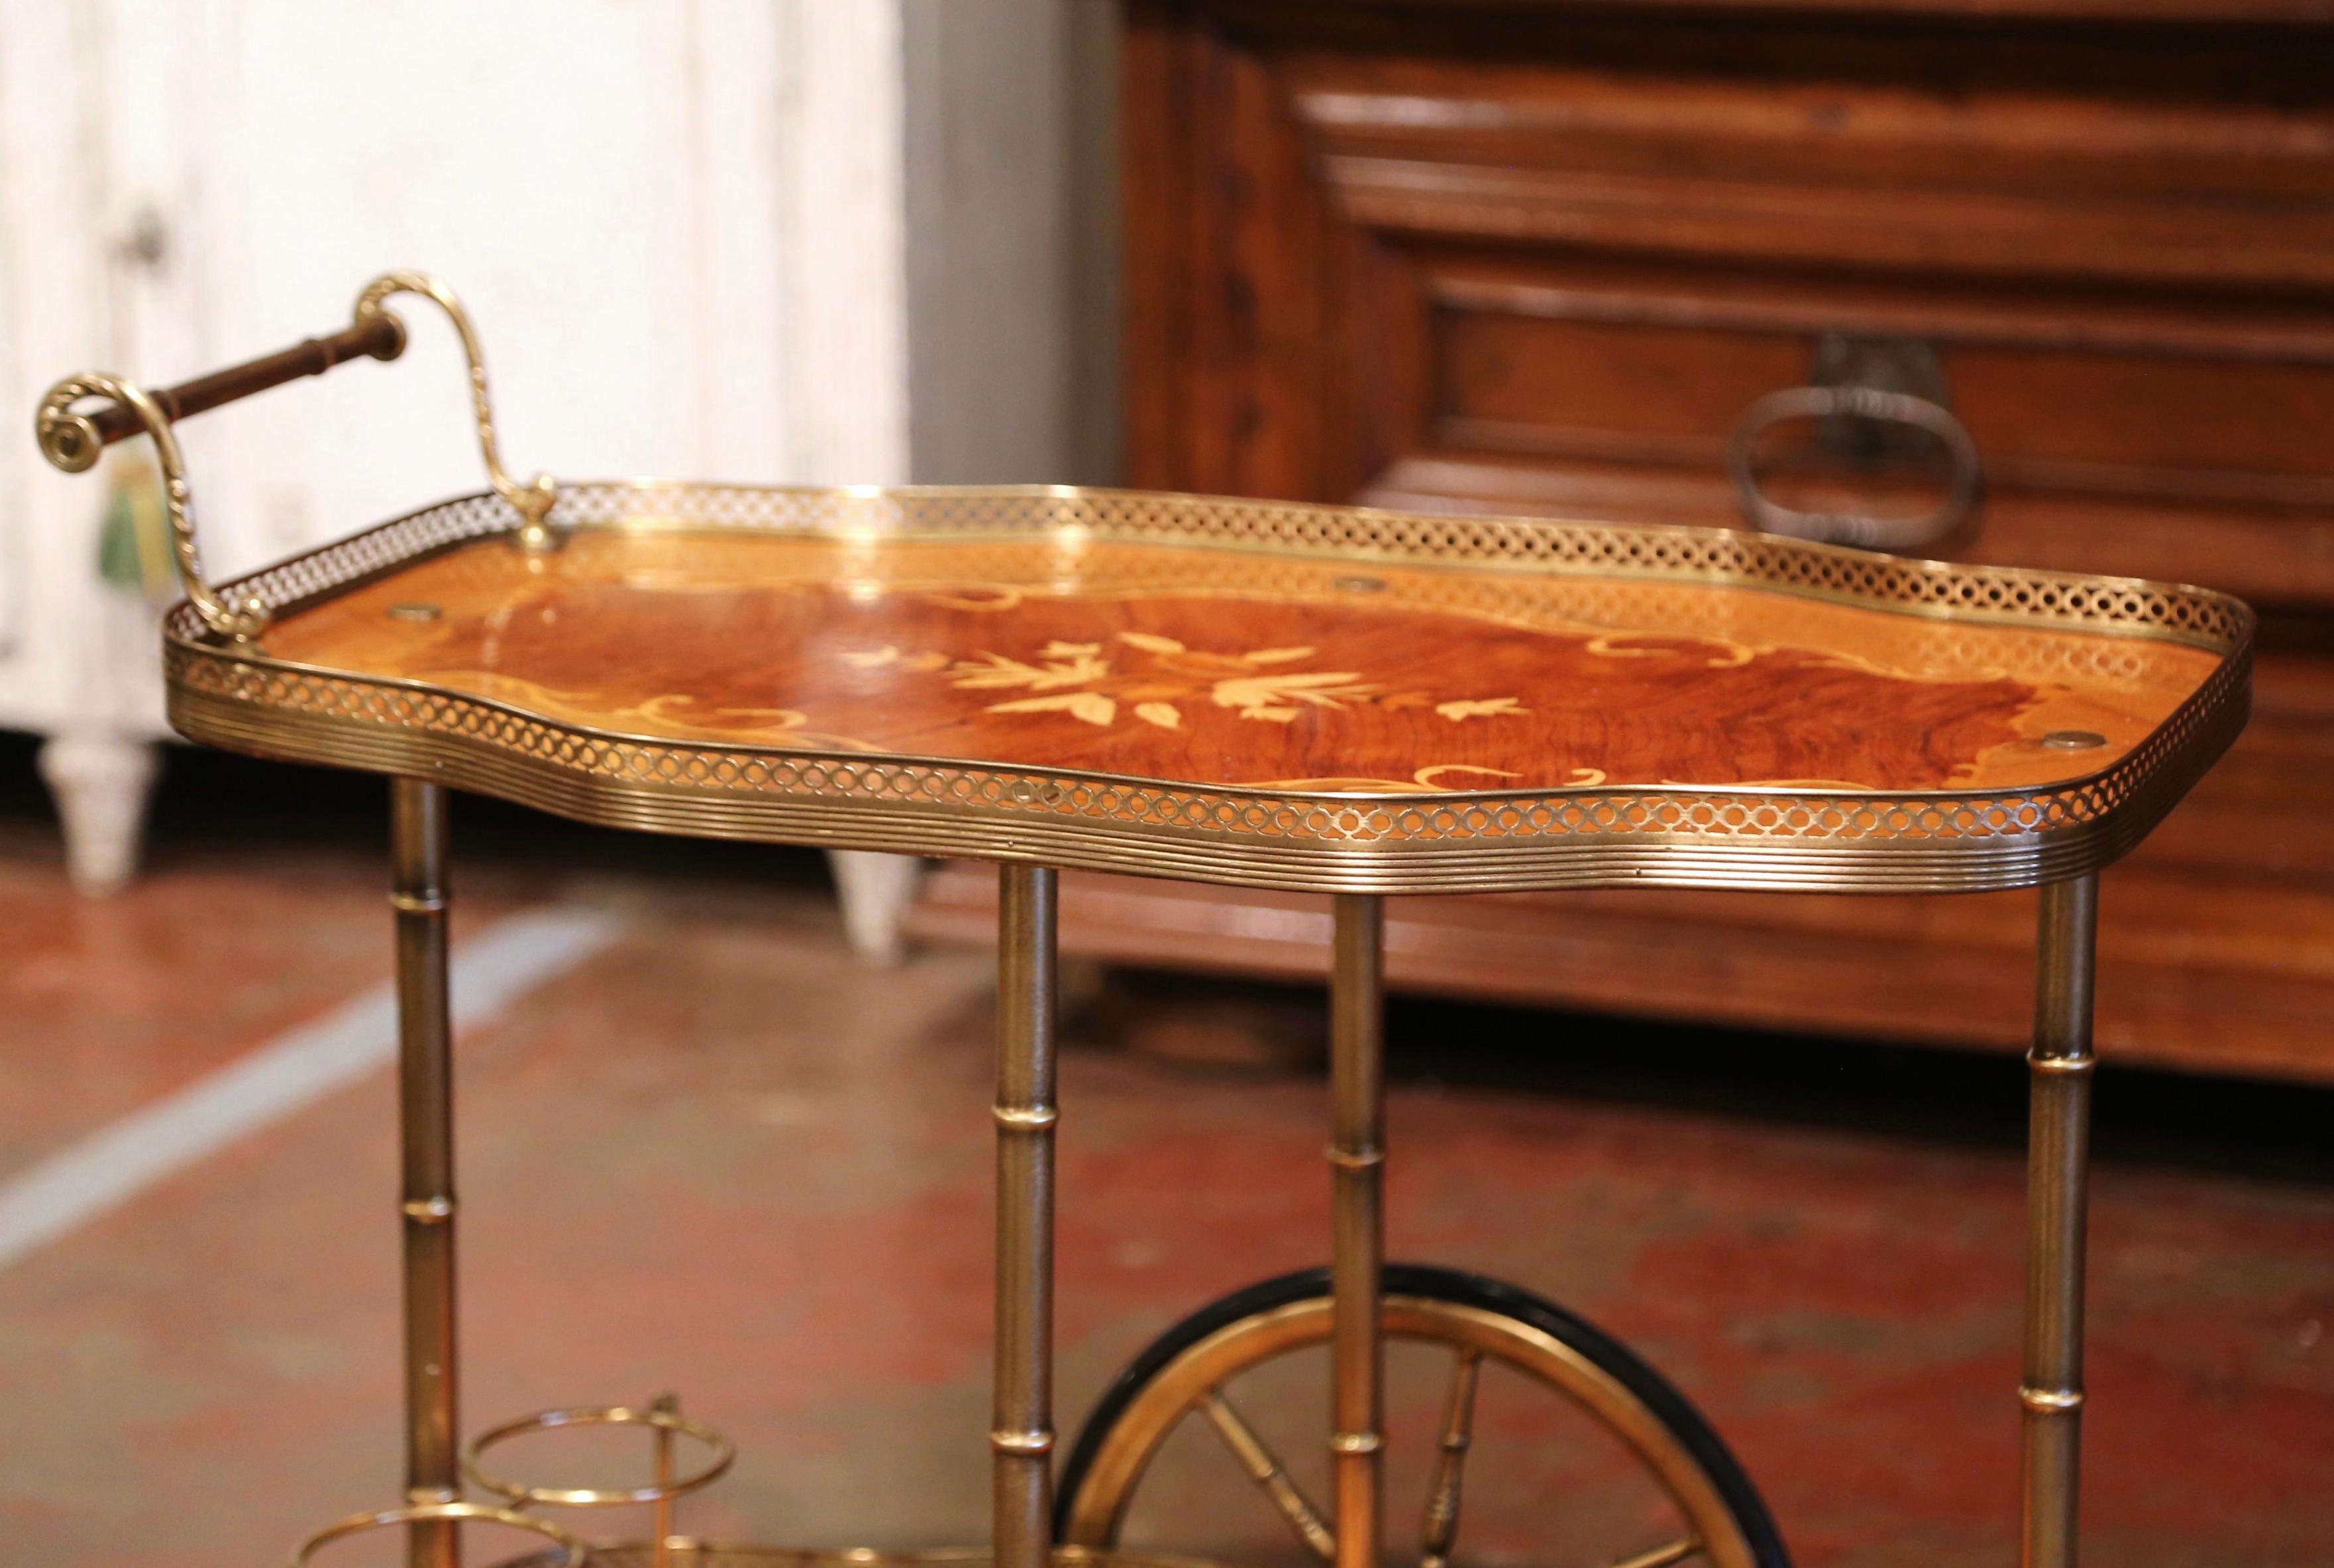
M 1926 553 L 2210 583 L 2250 735 L 2105 882 L 2124 1059 L 2334 1080 L 2334 7 L 1130 0 L 1127 476 L 1734 523 L 1729 436 L 1842 362 L 1984 467 Z M 1898 509 L 1921 462 L 1807 441 Z M 973 917 L 943 877 L 927 915 Z M 1326 915 L 1071 887 L 1064 936 L 1298 973 Z M 927 924 L 931 924 L 931 919 Z M 2021 898 L 1393 910 L 1400 982 L 2012 1045 Z

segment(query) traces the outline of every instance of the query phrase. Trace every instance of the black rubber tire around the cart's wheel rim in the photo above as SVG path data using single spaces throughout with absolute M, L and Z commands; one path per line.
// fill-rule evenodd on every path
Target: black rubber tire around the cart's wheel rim
M 1711 1486 L 1732 1510 L 1760 1568 L 1790 1568 L 1783 1533 L 1776 1531 L 1774 1517 L 1767 1512 L 1767 1500 L 1758 1496 L 1758 1486 L 1750 1484 L 1750 1475 L 1741 1468 L 1741 1461 L 1734 1458 L 1734 1451 L 1711 1428 L 1708 1419 L 1694 1409 L 1692 1400 L 1678 1393 L 1666 1377 L 1645 1365 L 1620 1339 L 1545 1297 L 1484 1274 L 1438 1269 L 1424 1262 L 1389 1262 L 1382 1288 L 1386 1295 L 1414 1295 L 1496 1311 L 1568 1344 L 1585 1360 L 1629 1388 L 1676 1435 L 1678 1444 L 1694 1456 L 1694 1463 L 1701 1465 L 1704 1475 L 1711 1477 Z M 1069 1526 L 1071 1503 L 1095 1463 L 1095 1454 L 1102 1449 L 1104 1435 L 1118 1423 L 1127 1405 L 1134 1402 L 1144 1384 L 1209 1335 L 1260 1311 L 1274 1311 L 1314 1297 L 1328 1297 L 1328 1269 L 1300 1269 L 1279 1279 L 1265 1279 L 1209 1302 L 1144 1346 L 1144 1353 L 1127 1363 L 1127 1370 L 1118 1374 L 1109 1393 L 1102 1395 L 1102 1402 L 1095 1405 L 1095 1414 L 1085 1419 L 1078 1442 L 1069 1449 L 1069 1461 L 1062 1465 L 1062 1477 L 1055 1484 L 1055 1535 Z

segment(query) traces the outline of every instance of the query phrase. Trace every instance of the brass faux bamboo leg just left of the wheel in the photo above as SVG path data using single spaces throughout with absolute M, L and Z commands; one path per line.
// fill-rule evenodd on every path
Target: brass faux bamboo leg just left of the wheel
M 1053 1559 L 1055 880 L 1004 866 L 997 889 L 997 1568 Z

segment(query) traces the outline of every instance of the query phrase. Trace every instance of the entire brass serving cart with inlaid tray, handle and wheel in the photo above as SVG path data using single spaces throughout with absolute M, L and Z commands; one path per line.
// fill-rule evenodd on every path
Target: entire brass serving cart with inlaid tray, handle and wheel
M 212 588 L 173 420 L 394 359 L 406 329 L 385 303 L 401 292 L 436 301 L 462 338 L 492 490 Z M 1449 1351 L 1424 1568 L 1459 1540 L 1484 1365 L 1564 1395 L 1673 1505 L 1662 1540 L 1599 1561 L 1783 1568 L 1725 1444 L 1627 1346 L 1512 1286 L 1384 1262 L 1382 901 L 2040 884 L 2024 1563 L 2075 1561 L 2098 873 L 2243 726 L 2252 616 L 2236 600 L 1692 527 L 1060 488 L 520 485 L 478 341 L 418 273 L 366 287 L 345 331 L 175 390 L 75 376 L 37 427 L 65 469 L 131 434 L 156 448 L 187 588 L 163 625 L 184 735 L 392 779 L 408 1489 L 301 1542 L 294 1563 L 401 1526 L 415 1568 L 453 1568 L 464 1524 L 534 1531 L 537 1561 L 565 1568 L 882 1561 L 677 1533 L 672 1500 L 731 1451 L 670 1402 L 546 1412 L 462 1447 L 450 789 L 651 833 L 999 863 L 997 1568 L 1123 1559 L 1130 1500 L 1188 1416 L 1302 1549 L 1377 1568 L 1389 1337 Z M 1064 866 L 1333 896 L 1333 1239 L 1328 1269 L 1225 1297 L 1151 1346 L 1057 1468 Z M 1232 1379 L 1307 1346 L 1330 1358 L 1326 1507 L 1230 1398 Z M 534 1486 L 485 1456 L 593 1423 L 647 1428 L 654 1479 Z M 654 1505 L 651 1535 L 584 1545 L 539 1512 L 612 1503 Z

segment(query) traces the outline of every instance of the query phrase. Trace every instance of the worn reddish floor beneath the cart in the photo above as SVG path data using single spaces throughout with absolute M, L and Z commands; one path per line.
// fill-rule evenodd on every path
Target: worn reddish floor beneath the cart
M 378 786 L 180 758 L 152 875 L 84 905 L 21 763 L 0 751 L 0 1178 L 385 975 Z M 808 856 L 471 803 L 457 838 L 457 938 L 541 903 L 626 931 L 460 1048 L 469 1426 L 670 1386 L 742 1449 L 691 1528 L 976 1538 L 985 957 L 857 968 Z M 1139 996 L 1221 1027 L 1244 1006 L 1197 982 Z M 1160 1328 L 1319 1260 L 1326 1234 L 1316 1076 L 1179 1069 L 1106 1034 L 1064 1062 L 1064 1428 Z M 2014 1064 L 1428 1003 L 1391 1034 L 1396 1255 L 1631 1339 L 1732 1440 L 1802 1563 L 2014 1561 Z M 2334 1097 L 2138 1073 L 2101 1092 L 2084 1561 L 2322 1568 Z M 392 1199 L 376 1073 L 0 1269 L 0 1561 L 273 1563 L 390 1503 Z M 1398 1372 L 1400 1444 L 1435 1381 Z M 1258 1421 L 1305 1430 L 1314 1398 L 1293 1379 Z M 1475 1561 L 1568 1568 L 1531 1526 L 1587 1528 L 1599 1505 L 1519 1461 L 1501 1489 L 1491 1437 L 1531 1435 L 1484 1435 Z M 1286 1561 L 1204 1449 L 1158 1486 L 1144 1519 L 1179 1545 Z

